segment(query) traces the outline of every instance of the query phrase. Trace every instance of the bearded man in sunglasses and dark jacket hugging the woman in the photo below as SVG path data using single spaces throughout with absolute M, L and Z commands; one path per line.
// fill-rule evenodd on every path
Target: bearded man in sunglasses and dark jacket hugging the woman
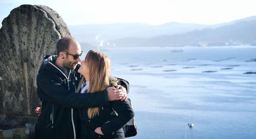
M 35 126 L 36 138 L 76 138 L 78 108 L 100 107 L 109 105 L 109 101 L 126 99 L 121 86 L 90 94 L 75 93 L 81 78 L 77 72 L 81 47 L 72 37 L 59 39 L 56 47 L 58 56 L 45 57 L 36 79 L 37 94 L 42 102 Z

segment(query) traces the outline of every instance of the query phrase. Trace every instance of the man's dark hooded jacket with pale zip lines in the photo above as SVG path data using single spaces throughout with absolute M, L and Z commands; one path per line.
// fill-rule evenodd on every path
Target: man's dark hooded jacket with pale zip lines
M 106 90 L 92 94 L 75 93 L 81 75 L 80 65 L 67 77 L 47 56 L 37 75 L 37 94 L 42 102 L 41 114 L 35 126 L 36 138 L 76 138 L 77 108 L 109 105 Z

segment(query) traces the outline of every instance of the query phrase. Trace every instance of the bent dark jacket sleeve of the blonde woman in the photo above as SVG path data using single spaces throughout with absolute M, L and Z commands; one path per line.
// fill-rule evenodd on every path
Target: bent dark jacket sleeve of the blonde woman
M 117 117 L 101 126 L 104 135 L 111 135 L 122 128 L 134 117 L 134 111 L 128 100 L 111 101 L 110 106 L 118 113 Z

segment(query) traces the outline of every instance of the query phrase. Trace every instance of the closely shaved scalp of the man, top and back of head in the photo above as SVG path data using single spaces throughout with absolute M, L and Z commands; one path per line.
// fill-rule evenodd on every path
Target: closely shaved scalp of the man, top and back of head
M 57 48 L 57 55 L 59 56 L 60 52 L 68 52 L 71 43 L 77 44 L 78 42 L 72 37 L 62 37 L 57 41 L 56 48 Z M 79 44 L 79 43 L 78 43 Z

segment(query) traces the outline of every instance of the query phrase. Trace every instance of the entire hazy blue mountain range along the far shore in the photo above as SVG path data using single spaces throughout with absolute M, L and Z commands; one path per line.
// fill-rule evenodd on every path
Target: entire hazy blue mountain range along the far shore
M 183 47 L 256 45 L 256 16 L 217 25 L 169 22 L 69 26 L 81 47 Z

